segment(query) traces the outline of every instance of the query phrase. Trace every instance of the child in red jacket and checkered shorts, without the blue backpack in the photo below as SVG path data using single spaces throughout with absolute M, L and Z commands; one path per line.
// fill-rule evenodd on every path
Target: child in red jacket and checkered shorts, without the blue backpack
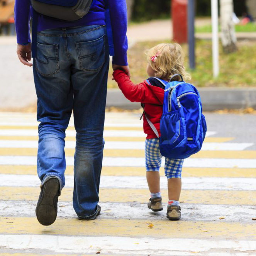
M 170 81 L 174 74 L 181 74 L 183 78 L 190 78 L 185 72 L 183 65 L 184 54 L 179 44 L 158 44 L 147 52 L 147 80 L 134 85 L 129 76 L 122 70 L 115 70 L 113 73 L 115 81 L 131 102 L 144 103 L 144 111 L 147 118 L 156 127 L 160 134 L 160 119 L 163 113 L 164 85 L 156 78 Z M 155 78 L 156 77 L 156 78 Z M 179 76 L 175 77 L 176 80 Z M 162 155 L 159 151 L 159 141 L 154 131 L 149 126 L 145 115 L 143 115 L 143 128 L 147 134 L 145 142 L 146 176 L 151 198 L 147 204 L 154 212 L 163 210 L 162 197 L 160 192 L 159 168 Z M 165 158 L 164 171 L 168 179 L 168 207 L 167 218 L 179 220 L 181 210 L 179 206 L 181 192 L 181 168 L 183 159 Z

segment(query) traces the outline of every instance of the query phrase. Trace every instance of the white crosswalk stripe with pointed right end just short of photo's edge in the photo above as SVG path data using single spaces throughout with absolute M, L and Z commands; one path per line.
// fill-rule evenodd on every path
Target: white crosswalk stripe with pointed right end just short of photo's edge
M 241 151 L 247 147 L 253 146 L 254 143 L 203 143 L 202 150 L 220 150 L 220 151 Z M 37 148 L 37 141 L 24 141 L 20 143 L 19 140 L 0 140 L 0 148 Z M 75 148 L 75 141 L 66 141 L 65 148 Z M 104 149 L 144 149 L 144 141 L 106 141 Z

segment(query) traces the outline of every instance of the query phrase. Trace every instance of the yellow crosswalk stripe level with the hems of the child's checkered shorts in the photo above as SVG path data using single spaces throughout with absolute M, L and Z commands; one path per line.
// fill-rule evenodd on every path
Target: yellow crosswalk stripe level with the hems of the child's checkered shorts
M 65 174 L 73 175 L 73 166 L 67 166 Z M 34 165 L 0 165 L 0 174 L 36 175 Z M 145 176 L 145 167 L 103 166 L 102 175 L 110 176 Z M 160 168 L 160 175 L 164 176 L 164 168 Z M 241 177 L 256 178 L 256 168 L 193 168 L 183 167 L 182 177 Z

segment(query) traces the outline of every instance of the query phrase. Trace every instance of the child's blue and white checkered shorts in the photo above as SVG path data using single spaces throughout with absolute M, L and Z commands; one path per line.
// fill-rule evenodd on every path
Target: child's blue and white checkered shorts
M 159 171 L 163 156 L 160 153 L 158 139 L 146 139 L 145 142 L 146 170 Z M 184 159 L 165 158 L 164 173 L 168 179 L 181 178 Z

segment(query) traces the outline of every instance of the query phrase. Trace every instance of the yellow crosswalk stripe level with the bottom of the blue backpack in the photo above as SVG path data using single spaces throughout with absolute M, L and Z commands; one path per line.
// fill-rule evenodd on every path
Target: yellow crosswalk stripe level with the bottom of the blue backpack
M 75 149 L 65 149 L 66 156 L 74 156 Z M 0 148 L 2 156 L 36 156 L 37 148 Z M 108 157 L 145 157 L 144 149 L 104 149 L 104 156 Z M 201 150 L 190 158 L 232 158 L 255 159 L 256 151 L 210 151 Z

